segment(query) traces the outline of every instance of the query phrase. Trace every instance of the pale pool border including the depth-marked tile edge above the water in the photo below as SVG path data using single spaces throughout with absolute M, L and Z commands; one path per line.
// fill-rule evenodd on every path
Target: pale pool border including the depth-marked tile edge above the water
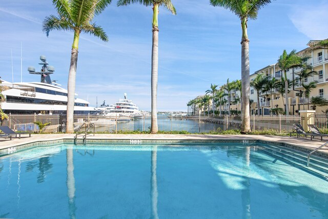
M 0 142 L 0 155 L 4 156 L 10 153 L 25 150 L 30 147 L 36 147 L 47 144 L 72 144 L 75 134 L 42 134 L 32 137 L 20 138 L 19 140 L 4 140 Z M 34 138 L 33 138 L 34 137 Z M 46 140 L 45 140 L 46 139 Z M 79 138 L 80 140 L 81 138 Z M 7 141 L 7 142 L 5 142 Z M 116 144 L 173 144 L 184 142 L 218 142 L 218 143 L 242 143 L 250 145 L 252 143 L 273 144 L 283 147 L 296 149 L 303 152 L 310 152 L 319 147 L 324 141 L 310 141 L 305 138 L 296 138 L 277 135 L 172 135 L 172 134 L 96 134 L 88 136 L 88 143 L 116 143 Z M 293 141 L 293 142 L 291 142 Z M 288 143 L 286 143 L 288 142 Z M 4 144 L 11 143 L 11 144 Z M 12 144 L 13 143 L 13 144 Z M 7 149 L 7 150 L 6 150 Z M 328 147 L 316 152 L 324 158 L 328 158 Z

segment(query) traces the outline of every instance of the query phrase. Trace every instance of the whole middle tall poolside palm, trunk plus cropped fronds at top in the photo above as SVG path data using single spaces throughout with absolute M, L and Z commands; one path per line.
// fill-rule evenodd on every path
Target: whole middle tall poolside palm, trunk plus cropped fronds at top
M 157 82 L 158 82 L 158 12 L 159 6 L 167 8 L 172 14 L 176 14 L 175 8 L 171 0 L 118 0 L 117 6 L 126 6 L 133 3 L 140 3 L 145 6 L 153 7 L 153 46 L 152 46 L 152 77 L 151 77 L 151 90 L 152 90 L 152 122 L 151 133 L 158 132 L 157 124 Z

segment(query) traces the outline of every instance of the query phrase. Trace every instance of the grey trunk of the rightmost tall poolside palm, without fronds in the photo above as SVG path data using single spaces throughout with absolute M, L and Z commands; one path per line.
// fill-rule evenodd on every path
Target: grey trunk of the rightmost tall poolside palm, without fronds
M 241 133 L 251 131 L 250 118 L 250 56 L 249 39 L 247 35 L 247 17 L 241 19 L 242 37 L 241 37 Z

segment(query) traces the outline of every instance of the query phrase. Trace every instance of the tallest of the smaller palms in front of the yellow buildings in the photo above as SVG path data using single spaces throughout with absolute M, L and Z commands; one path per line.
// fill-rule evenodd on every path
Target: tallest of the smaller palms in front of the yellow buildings
M 286 98 L 286 115 L 289 115 L 289 99 L 288 99 L 288 78 L 287 70 L 300 66 L 303 63 L 303 59 L 296 55 L 296 50 L 292 50 L 289 54 L 286 50 L 283 50 L 282 55 L 278 59 L 278 67 L 282 70 L 284 74 L 285 82 L 285 98 Z

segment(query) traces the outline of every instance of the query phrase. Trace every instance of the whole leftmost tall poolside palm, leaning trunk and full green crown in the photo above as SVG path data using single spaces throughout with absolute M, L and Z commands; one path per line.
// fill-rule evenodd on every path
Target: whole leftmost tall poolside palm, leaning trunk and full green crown
M 103 28 L 92 23 L 92 20 L 95 15 L 100 14 L 110 3 L 111 0 L 52 0 L 58 16 L 47 16 L 43 22 L 42 29 L 47 36 L 52 30 L 74 32 L 67 86 L 66 133 L 74 132 L 73 114 L 79 35 L 81 32 L 90 33 L 99 37 L 102 41 L 108 41 L 108 36 Z

